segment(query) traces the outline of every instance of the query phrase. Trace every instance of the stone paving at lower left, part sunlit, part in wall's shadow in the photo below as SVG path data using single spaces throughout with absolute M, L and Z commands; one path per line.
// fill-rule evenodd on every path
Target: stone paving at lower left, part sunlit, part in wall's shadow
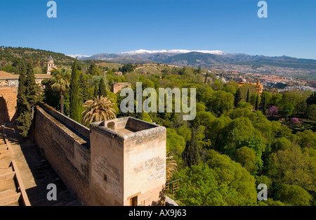
M 25 205 L 25 199 L 28 205 L 35 206 L 79 205 L 77 196 L 62 183 L 35 143 L 20 136 L 15 127 L 3 126 L 0 134 L 0 206 Z M 19 181 L 16 181 L 15 170 L 18 170 Z M 49 183 L 57 186 L 56 201 L 46 198 Z M 26 196 L 21 195 L 20 185 Z

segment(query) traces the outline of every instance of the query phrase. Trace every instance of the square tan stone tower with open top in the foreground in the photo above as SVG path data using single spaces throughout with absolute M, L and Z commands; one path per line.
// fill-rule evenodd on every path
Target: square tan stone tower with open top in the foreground
M 166 128 L 132 117 L 90 126 L 90 188 L 103 205 L 164 205 Z

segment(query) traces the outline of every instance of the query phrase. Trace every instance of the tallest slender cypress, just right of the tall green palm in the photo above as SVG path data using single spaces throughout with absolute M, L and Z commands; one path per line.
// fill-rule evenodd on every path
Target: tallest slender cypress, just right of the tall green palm
M 72 65 L 72 78 L 70 79 L 70 117 L 80 122 L 82 110 L 82 97 L 79 88 L 79 75 L 77 70 L 77 58 Z

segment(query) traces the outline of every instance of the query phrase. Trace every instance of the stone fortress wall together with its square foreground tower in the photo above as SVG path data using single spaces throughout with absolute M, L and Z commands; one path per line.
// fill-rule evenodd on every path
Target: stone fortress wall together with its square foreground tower
M 124 117 L 90 129 L 39 103 L 32 135 L 82 205 L 164 205 L 166 129 Z

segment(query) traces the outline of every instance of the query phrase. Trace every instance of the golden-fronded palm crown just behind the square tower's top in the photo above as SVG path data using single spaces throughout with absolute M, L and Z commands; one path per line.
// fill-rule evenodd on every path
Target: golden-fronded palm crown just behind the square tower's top
M 82 112 L 84 115 L 81 118 L 81 124 L 88 126 L 92 122 L 106 121 L 116 118 L 115 110 L 113 108 L 114 103 L 112 99 L 107 97 L 97 96 L 93 100 L 88 100 L 84 103 L 86 110 Z

